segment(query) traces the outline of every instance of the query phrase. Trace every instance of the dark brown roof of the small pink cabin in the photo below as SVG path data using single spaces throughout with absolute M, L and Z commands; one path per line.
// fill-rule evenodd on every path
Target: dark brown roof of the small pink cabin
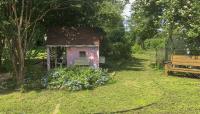
M 99 45 L 103 38 L 100 29 L 95 28 L 50 28 L 47 32 L 47 45 Z

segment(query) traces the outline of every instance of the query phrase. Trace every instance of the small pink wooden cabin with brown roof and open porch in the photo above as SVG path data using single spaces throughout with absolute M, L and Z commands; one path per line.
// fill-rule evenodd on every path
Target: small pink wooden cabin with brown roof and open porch
M 50 28 L 46 41 L 47 69 L 74 65 L 98 68 L 102 38 L 96 28 Z

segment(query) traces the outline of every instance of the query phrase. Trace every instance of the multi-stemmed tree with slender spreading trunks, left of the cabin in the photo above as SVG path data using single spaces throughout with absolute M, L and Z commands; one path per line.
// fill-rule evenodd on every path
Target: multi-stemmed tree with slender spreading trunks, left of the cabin
M 13 73 L 18 85 L 24 80 L 25 56 L 38 23 L 50 11 L 59 8 L 56 0 L 1 0 L 1 31 L 11 49 Z

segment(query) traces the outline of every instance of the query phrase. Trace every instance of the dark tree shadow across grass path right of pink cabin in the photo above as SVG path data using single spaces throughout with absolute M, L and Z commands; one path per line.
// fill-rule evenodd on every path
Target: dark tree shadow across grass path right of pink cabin
M 144 62 L 148 61 L 147 59 L 140 58 L 130 58 L 127 60 L 118 60 L 110 62 L 109 69 L 110 71 L 144 71 Z

